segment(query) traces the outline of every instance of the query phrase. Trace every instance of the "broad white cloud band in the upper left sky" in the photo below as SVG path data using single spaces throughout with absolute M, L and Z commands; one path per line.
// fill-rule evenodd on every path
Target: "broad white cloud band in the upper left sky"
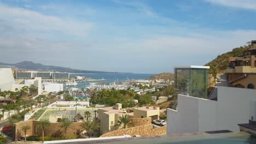
M 9 7 L 0 3 L 0 26 L 2 25 L 9 26 L 16 32 L 58 32 L 80 37 L 85 37 L 93 26 L 91 22 L 44 15 L 37 11 Z

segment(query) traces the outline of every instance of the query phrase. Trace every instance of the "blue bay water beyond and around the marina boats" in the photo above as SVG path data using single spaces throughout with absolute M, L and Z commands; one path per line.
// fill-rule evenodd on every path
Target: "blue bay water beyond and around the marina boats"
M 138 79 L 148 79 L 149 76 L 152 76 L 154 74 L 71 74 L 71 77 L 75 76 L 85 76 L 89 77 L 91 79 L 101 80 L 104 79 L 104 81 L 90 81 L 90 82 L 78 82 L 78 85 L 75 86 L 77 88 L 85 88 L 87 87 L 88 83 L 92 82 L 122 82 L 125 79 L 130 80 L 138 80 Z

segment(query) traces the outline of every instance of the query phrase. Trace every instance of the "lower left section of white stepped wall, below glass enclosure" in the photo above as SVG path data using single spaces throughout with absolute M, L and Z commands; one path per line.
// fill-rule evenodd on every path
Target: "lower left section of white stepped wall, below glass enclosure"
M 167 134 L 217 129 L 217 102 L 178 95 L 177 111 L 167 109 Z

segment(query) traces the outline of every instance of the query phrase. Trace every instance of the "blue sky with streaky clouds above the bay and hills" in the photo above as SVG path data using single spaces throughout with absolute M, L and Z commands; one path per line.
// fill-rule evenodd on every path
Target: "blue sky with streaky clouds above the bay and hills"
M 0 0 L 0 62 L 172 72 L 255 40 L 253 0 Z

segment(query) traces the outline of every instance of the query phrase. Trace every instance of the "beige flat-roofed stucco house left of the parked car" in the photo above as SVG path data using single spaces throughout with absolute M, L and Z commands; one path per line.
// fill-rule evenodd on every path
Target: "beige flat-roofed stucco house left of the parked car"
M 128 115 L 131 118 L 147 118 L 151 117 L 153 120 L 159 118 L 159 107 L 138 107 L 133 110 L 133 113 L 127 113 L 125 109 L 122 109 L 122 104 L 115 104 L 114 107 L 104 107 L 98 109 L 98 118 L 100 119 L 101 133 L 107 133 L 109 131 L 120 129 L 117 124 L 119 116 Z

